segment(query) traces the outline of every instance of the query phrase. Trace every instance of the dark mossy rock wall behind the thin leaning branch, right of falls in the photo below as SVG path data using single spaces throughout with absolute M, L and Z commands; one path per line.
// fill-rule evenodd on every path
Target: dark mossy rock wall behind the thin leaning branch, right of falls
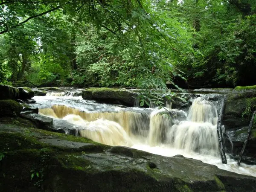
M 256 90 L 233 91 L 227 94 L 227 105 L 224 113 L 225 143 L 227 152 L 238 158 L 244 140 L 247 138 L 247 130 L 253 110 L 256 109 Z M 248 140 L 244 152 L 244 162 L 256 163 L 256 125 Z M 233 145 L 233 147 L 232 147 Z

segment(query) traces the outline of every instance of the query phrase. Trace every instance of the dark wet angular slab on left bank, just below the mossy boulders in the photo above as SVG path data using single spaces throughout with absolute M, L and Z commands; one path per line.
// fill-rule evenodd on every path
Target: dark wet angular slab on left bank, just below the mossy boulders
M 37 128 L 40 129 L 46 129 L 46 130 L 51 130 L 52 129 L 52 122 L 53 119 L 47 116 L 42 116 L 37 113 L 32 113 L 32 114 L 20 114 L 25 119 L 29 119 L 30 121 L 34 122 Z

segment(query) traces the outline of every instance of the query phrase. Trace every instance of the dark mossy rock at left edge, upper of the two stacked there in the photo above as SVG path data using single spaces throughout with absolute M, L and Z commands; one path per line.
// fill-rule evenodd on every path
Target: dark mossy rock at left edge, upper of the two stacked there
M 0 99 L 18 99 L 19 95 L 18 88 L 0 84 Z

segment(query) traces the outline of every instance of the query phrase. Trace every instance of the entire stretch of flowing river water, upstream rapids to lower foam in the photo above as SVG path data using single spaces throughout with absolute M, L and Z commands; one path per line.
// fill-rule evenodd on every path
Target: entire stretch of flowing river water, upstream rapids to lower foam
M 202 96 L 194 99 L 189 111 L 166 108 L 125 108 L 83 100 L 64 91 L 35 96 L 39 113 L 64 119 L 76 125 L 81 137 L 107 145 L 122 145 L 172 157 L 198 159 L 231 172 L 256 177 L 256 166 L 241 163 L 227 155 L 221 163 L 218 151 L 218 101 Z M 224 126 L 222 127 L 224 128 Z

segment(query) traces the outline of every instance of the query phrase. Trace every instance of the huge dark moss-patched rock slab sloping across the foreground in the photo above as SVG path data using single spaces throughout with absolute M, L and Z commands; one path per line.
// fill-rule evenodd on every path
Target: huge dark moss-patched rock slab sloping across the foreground
M 0 122 L 1 191 L 255 191 L 256 178 L 183 156 L 131 148 Z

